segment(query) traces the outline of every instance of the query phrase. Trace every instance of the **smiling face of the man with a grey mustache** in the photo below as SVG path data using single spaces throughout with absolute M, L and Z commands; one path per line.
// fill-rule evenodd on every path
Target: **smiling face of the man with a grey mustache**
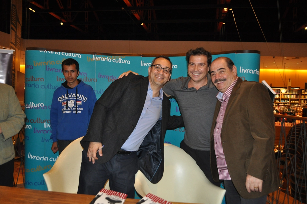
M 211 80 L 216 88 L 224 93 L 232 82 L 237 78 L 237 68 L 235 65 L 230 70 L 223 58 L 213 61 L 210 65 Z

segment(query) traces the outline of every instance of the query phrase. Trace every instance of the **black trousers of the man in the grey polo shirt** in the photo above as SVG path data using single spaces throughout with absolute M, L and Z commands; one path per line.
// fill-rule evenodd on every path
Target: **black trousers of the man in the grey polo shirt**
M 180 148 L 183 149 L 186 153 L 188 153 L 188 155 L 190 155 L 196 161 L 196 164 L 204 172 L 205 176 L 210 182 L 220 187 L 221 182 L 215 182 L 212 178 L 210 168 L 210 151 L 200 151 L 192 149 L 183 140 L 180 143 Z

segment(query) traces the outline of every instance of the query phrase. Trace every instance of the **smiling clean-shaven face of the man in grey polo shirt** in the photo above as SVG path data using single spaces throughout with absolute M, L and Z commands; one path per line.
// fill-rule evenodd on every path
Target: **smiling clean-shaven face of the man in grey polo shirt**
M 202 85 L 207 84 L 208 74 L 208 62 L 207 56 L 204 55 L 192 55 L 188 64 L 188 75 L 194 83 L 200 83 Z

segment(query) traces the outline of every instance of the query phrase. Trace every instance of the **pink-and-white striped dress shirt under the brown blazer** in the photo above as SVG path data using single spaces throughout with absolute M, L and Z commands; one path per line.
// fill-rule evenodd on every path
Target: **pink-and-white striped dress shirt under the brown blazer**
M 214 150 L 216 155 L 216 165 L 219 170 L 219 178 L 220 180 L 231 180 L 229 175 L 229 171 L 227 168 L 225 155 L 223 152 L 223 147 L 221 143 L 221 129 L 223 125 L 224 114 L 226 111 L 226 107 L 228 104 L 228 99 L 230 97 L 231 91 L 235 83 L 237 82 L 238 77 L 235 79 L 234 82 L 227 88 L 227 90 L 222 93 L 219 92 L 216 95 L 216 98 L 222 103 L 220 107 L 219 115 L 216 118 L 216 126 L 214 128 L 213 137 L 214 137 Z

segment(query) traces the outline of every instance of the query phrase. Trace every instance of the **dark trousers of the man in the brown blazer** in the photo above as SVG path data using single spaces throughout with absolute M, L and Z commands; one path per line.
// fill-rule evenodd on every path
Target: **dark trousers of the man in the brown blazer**
M 246 199 L 242 198 L 235 189 L 231 180 L 224 180 L 224 187 L 226 190 L 225 199 L 227 204 L 265 204 L 267 195 L 259 198 Z

